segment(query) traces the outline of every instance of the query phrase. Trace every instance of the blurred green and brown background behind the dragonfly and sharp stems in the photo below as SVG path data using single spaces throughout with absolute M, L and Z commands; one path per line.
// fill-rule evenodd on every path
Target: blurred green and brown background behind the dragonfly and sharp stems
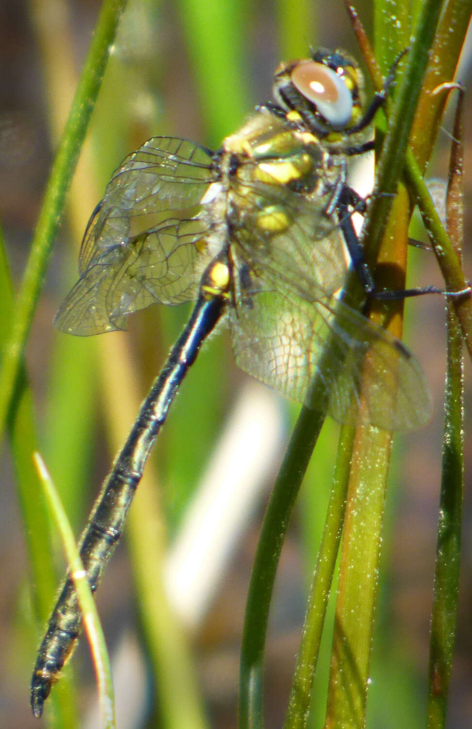
M 95 0 L 0 3 L 0 219 L 14 281 L 23 272 L 52 155 L 98 9 Z M 371 3 L 359 1 L 357 9 L 369 28 Z M 182 136 L 218 148 L 256 103 L 270 98 L 272 73 L 279 61 L 307 55 L 310 45 L 320 44 L 342 47 L 358 56 L 341 0 L 131 0 L 128 4 L 26 351 L 40 446 L 77 534 L 109 468 L 115 441 L 121 440 L 135 417 L 132 393 L 123 394 L 125 384 L 136 389 L 139 402 L 189 311 L 186 306 L 154 307 L 136 313 L 127 334 L 82 340 L 55 332 L 52 316 L 76 280 L 78 245 L 90 212 L 111 172 L 144 139 Z M 466 86 L 470 85 L 469 61 L 470 48 L 466 47 L 460 74 Z M 466 113 L 467 130 L 472 123 L 470 101 Z M 433 175 L 444 176 L 448 141 L 444 130 Z M 470 140 L 465 144 L 465 207 L 469 213 Z M 470 217 L 465 230 L 468 241 Z M 432 256 L 412 252 L 412 262 L 412 284 L 441 285 Z M 466 271 L 471 270 L 470 264 L 466 250 Z M 393 462 L 368 709 L 369 726 L 382 729 L 419 726 L 425 712 L 444 389 L 441 300 L 423 297 L 407 304 L 406 340 L 425 368 L 435 415 L 421 432 L 398 438 Z M 123 374 L 128 358 L 130 370 Z M 466 373 L 470 372 L 466 363 Z M 165 515 L 165 526 L 156 522 L 162 542 L 172 544 L 178 537 L 189 500 L 200 486 L 246 379 L 232 362 L 229 338 L 222 330 L 192 367 L 148 467 L 159 503 L 148 503 L 143 510 L 145 514 L 146 509 L 148 513 L 152 510 L 152 518 L 160 511 Z M 298 408 L 274 397 L 281 451 Z M 117 412 L 114 401 L 120 406 Z M 329 496 L 336 432 L 336 426 L 326 424 L 280 562 L 267 646 L 268 726 L 283 720 L 304 596 Z M 467 441 L 465 453 L 467 474 L 472 454 Z M 25 532 L 7 443 L 1 455 L 0 726 L 26 729 L 39 726 L 28 704 L 39 625 L 32 610 Z M 208 725 L 215 728 L 230 729 L 237 724 L 238 649 L 245 595 L 261 514 L 277 467 L 274 462 L 261 475 L 245 529 L 233 535 L 231 558 L 208 596 L 207 608 L 192 629 L 185 630 L 203 711 Z M 449 725 L 455 729 L 472 724 L 471 516 L 472 501 L 466 491 L 459 631 L 449 708 Z M 147 563 L 140 559 L 135 564 L 141 554 L 135 540 L 134 531 L 130 534 L 131 560 L 126 540 L 119 546 L 98 596 L 117 669 L 119 707 L 127 707 L 126 711 L 118 709 L 121 728 L 160 726 L 160 697 L 153 688 L 153 661 L 149 658 L 152 651 L 149 645 L 146 649 L 149 636 L 141 625 L 138 606 L 142 597 L 136 596 L 141 585 L 139 568 L 152 574 L 160 556 L 149 545 Z M 56 547 L 59 579 L 63 561 L 60 547 Z M 46 549 L 44 558 L 48 558 Z M 315 695 L 320 701 L 313 707 L 313 726 L 323 723 L 329 648 L 327 639 L 317 677 Z M 88 716 L 95 702 L 93 670 L 83 642 L 73 663 L 74 684 L 79 687 L 76 701 L 80 714 L 87 717 L 82 725 L 93 726 Z

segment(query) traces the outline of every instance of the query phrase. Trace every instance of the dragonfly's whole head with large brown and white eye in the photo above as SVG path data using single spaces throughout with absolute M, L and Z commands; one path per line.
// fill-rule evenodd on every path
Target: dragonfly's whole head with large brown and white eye
M 272 92 L 289 120 L 318 136 L 336 136 L 362 116 L 363 76 L 344 51 L 322 48 L 311 58 L 280 64 Z

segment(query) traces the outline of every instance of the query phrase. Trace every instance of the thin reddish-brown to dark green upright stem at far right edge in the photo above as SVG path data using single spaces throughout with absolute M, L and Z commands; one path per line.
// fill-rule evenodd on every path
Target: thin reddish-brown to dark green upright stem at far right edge
M 457 254 L 463 240 L 463 92 L 457 104 L 447 194 L 447 229 Z M 433 612 L 428 666 L 428 729 L 443 729 L 457 628 L 464 490 L 463 340 L 447 305 L 447 381 Z

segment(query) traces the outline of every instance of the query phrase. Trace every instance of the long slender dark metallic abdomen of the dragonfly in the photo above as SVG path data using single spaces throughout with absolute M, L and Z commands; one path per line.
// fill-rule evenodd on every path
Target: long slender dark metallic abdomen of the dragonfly
M 208 274 L 209 281 L 211 271 Z M 208 289 L 208 287 L 207 287 Z M 170 403 L 202 341 L 216 326 L 227 302 L 224 292 L 202 293 L 184 332 L 170 351 L 168 362 L 154 381 L 127 441 L 103 483 L 90 521 L 80 541 L 80 556 L 90 588 L 95 591 L 101 574 L 122 534 L 127 511 L 143 475 L 149 450 L 167 416 Z M 39 648 L 31 680 L 31 707 L 40 717 L 45 699 L 74 650 L 82 615 L 71 577 L 66 578 Z

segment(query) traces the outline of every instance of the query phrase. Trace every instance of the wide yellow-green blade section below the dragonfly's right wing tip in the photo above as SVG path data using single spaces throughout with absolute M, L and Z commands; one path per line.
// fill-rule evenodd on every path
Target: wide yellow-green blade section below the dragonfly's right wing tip
M 362 729 L 391 436 L 360 428 L 347 495 L 326 728 Z M 387 464 L 387 467 L 386 467 Z

